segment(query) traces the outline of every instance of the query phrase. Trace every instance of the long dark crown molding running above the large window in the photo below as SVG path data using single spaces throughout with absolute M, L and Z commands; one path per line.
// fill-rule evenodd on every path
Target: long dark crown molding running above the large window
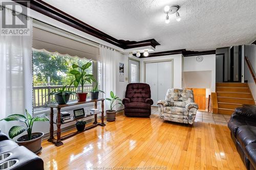
M 12 0 L 12 1 L 27 7 L 27 3 L 25 1 L 18 1 L 18 0 Z M 66 25 L 71 26 L 77 30 L 90 34 L 96 38 L 109 42 L 123 49 L 148 46 L 148 45 L 151 45 L 155 48 L 156 45 L 160 45 L 155 39 L 148 39 L 143 41 L 118 40 L 41 0 L 33 0 L 29 2 L 30 2 L 29 8 L 31 8 L 32 10 L 35 10 L 41 14 L 44 14 L 62 23 L 65 23 Z

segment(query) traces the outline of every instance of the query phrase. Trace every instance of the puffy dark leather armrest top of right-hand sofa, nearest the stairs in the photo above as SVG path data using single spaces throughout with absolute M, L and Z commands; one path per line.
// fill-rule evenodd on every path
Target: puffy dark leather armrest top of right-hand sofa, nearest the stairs
M 243 105 L 236 108 L 235 112 L 246 118 L 256 119 L 256 106 L 255 105 Z

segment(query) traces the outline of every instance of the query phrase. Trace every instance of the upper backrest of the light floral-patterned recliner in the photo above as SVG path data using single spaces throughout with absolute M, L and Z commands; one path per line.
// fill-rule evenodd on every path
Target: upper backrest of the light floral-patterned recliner
M 193 90 L 188 89 L 168 89 L 166 92 L 165 100 L 169 102 L 184 102 L 186 104 L 194 102 Z

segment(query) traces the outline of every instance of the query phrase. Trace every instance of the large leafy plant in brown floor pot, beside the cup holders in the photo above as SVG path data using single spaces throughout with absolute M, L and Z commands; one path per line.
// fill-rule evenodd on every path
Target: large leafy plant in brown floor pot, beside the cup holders
M 13 139 L 19 134 L 22 134 L 24 131 L 27 131 L 28 134 L 20 136 L 16 140 L 16 143 L 18 143 L 18 145 L 20 146 L 24 146 L 28 148 L 30 151 L 34 152 L 35 154 L 39 153 L 42 150 L 41 142 L 42 142 L 42 136 L 44 136 L 44 133 L 42 132 L 32 133 L 32 128 L 33 128 L 34 122 L 49 121 L 49 119 L 45 115 L 31 116 L 26 109 L 26 116 L 22 114 L 12 114 L 7 116 L 6 118 L 3 118 L 2 120 L 6 120 L 7 122 L 18 121 L 18 122 L 24 123 L 26 126 L 13 126 L 9 130 L 9 137 Z

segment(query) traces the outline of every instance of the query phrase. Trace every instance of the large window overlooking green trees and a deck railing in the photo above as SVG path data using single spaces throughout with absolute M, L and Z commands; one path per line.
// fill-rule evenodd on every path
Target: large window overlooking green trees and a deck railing
M 70 82 L 74 79 L 69 74 L 72 64 L 83 65 L 88 61 L 87 59 L 71 57 L 69 55 L 33 50 L 34 108 L 47 107 L 47 104 L 54 103 L 54 96 L 48 97 L 47 94 L 53 89 L 61 88 L 63 85 L 70 85 Z M 93 71 L 96 70 L 94 68 L 98 67 L 97 65 L 98 62 L 93 62 L 92 66 L 88 69 L 88 72 L 95 75 L 96 79 L 98 75 L 101 75 L 100 72 Z M 80 92 L 81 87 L 75 88 L 71 86 L 71 90 Z M 85 92 L 91 91 L 92 84 L 87 83 L 84 85 L 83 90 Z M 88 98 L 90 98 L 90 93 L 88 93 Z M 71 100 L 76 100 L 76 96 L 71 96 Z

